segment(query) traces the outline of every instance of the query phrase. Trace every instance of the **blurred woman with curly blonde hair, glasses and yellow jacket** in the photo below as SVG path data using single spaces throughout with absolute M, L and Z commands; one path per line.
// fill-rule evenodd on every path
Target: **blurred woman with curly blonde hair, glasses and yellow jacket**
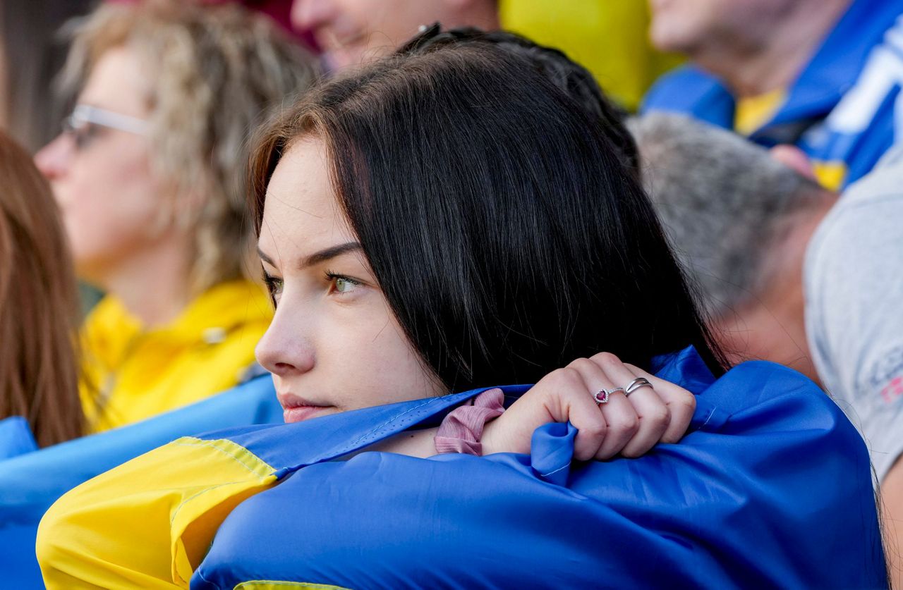
M 76 272 L 107 292 L 83 328 L 89 429 L 253 371 L 271 313 L 245 278 L 246 136 L 313 76 L 275 23 L 237 5 L 102 5 L 79 23 L 63 72 L 77 105 L 36 161 Z

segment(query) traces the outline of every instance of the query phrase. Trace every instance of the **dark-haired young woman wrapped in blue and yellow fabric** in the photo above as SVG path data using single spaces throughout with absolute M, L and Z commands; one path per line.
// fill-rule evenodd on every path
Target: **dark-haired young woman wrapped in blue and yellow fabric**
M 435 43 L 337 78 L 253 170 L 276 305 L 257 356 L 297 423 L 182 438 L 67 494 L 39 532 L 50 587 L 884 584 L 855 429 L 778 365 L 715 379 L 635 176 L 529 60 Z M 597 350 L 618 356 L 540 379 Z M 592 424 L 642 424 L 666 390 L 637 367 L 698 394 L 691 432 L 573 464 L 609 444 Z M 537 379 L 484 431 L 493 385 Z M 433 445 L 470 453 L 415 458 Z

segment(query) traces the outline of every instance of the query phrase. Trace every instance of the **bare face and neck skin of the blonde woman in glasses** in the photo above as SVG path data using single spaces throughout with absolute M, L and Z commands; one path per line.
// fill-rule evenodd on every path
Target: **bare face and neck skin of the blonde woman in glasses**
M 79 104 L 147 118 L 144 70 L 133 51 L 105 52 Z M 146 326 L 178 315 L 190 299 L 191 236 L 172 223 L 148 139 L 92 125 L 80 145 L 60 134 L 35 163 L 60 204 L 79 277 L 115 293 Z

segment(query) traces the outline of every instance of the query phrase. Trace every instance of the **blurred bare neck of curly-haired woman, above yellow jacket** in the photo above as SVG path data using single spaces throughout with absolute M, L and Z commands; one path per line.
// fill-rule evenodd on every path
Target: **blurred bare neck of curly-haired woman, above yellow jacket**
M 177 318 L 191 301 L 188 240 L 172 238 L 104 273 L 98 284 L 122 301 L 145 329 Z

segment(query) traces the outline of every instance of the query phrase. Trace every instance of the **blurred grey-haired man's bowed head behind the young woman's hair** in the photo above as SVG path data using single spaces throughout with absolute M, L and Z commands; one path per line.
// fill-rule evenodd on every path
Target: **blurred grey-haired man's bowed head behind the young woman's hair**
M 680 115 L 629 124 L 643 183 L 710 326 L 734 360 L 815 378 L 803 324 L 803 259 L 836 195 L 742 137 Z

